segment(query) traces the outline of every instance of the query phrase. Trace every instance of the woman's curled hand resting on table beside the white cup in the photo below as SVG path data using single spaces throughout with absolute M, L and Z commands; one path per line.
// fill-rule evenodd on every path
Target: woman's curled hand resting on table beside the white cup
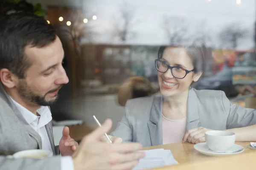
M 209 130 L 210 129 L 207 129 L 207 128 L 204 128 L 204 127 L 197 127 L 197 128 L 194 128 L 194 129 L 190 129 L 183 136 L 182 142 L 186 142 L 186 140 L 189 143 L 193 143 L 193 144 L 205 142 L 204 133 L 209 131 Z

